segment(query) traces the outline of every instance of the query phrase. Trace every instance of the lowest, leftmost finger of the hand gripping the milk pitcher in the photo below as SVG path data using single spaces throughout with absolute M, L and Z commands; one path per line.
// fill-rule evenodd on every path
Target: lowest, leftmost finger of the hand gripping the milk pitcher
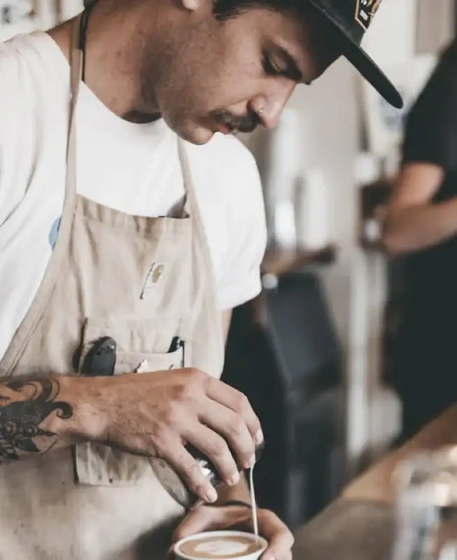
M 166 440 L 166 447 L 161 456 L 181 476 L 183 482 L 189 489 L 194 491 L 205 502 L 212 503 L 217 500 L 217 492 L 205 475 L 193 456 L 185 449 L 180 440 L 171 436 Z

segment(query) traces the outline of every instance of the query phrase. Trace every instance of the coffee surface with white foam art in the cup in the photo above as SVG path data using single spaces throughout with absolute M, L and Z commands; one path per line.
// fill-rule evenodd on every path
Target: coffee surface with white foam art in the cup
M 261 550 L 261 542 L 243 536 L 201 537 L 182 542 L 180 552 L 196 560 L 236 559 Z

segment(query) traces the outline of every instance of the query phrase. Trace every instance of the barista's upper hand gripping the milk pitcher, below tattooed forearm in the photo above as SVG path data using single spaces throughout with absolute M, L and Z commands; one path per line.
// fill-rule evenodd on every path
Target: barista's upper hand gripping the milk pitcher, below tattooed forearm
M 259 419 L 245 395 L 222 381 L 193 369 L 91 381 L 99 386 L 92 406 L 105 419 L 96 440 L 164 458 L 203 500 L 213 502 L 217 493 L 185 444 L 208 456 L 229 486 L 254 463 L 263 441 Z

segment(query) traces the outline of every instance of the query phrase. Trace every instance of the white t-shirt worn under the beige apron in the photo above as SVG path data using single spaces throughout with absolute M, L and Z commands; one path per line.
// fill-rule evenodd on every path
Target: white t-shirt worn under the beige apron
M 43 279 L 65 191 L 68 62 L 43 32 L 0 45 L 0 358 Z M 164 216 L 183 195 L 176 137 L 163 120 L 115 116 L 83 84 L 78 193 L 140 216 Z M 216 134 L 188 144 L 220 309 L 255 297 L 266 225 L 251 153 Z

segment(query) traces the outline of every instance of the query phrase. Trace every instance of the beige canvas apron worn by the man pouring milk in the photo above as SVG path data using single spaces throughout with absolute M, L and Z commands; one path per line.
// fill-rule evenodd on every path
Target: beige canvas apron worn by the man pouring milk
M 34 302 L 1 360 L 0 375 L 76 374 L 78 350 L 83 357 L 94 341 L 110 336 L 117 342 L 115 374 L 147 360 L 152 371 L 185 362 L 218 377 L 222 321 L 184 143 L 177 140 L 187 202 L 178 218 L 129 216 L 76 193 L 79 20 L 71 52 L 59 237 Z M 168 353 L 176 336 L 185 351 Z M 159 528 L 173 526 L 184 509 L 159 484 L 153 465 L 98 444 L 1 465 L 0 558 L 161 558 L 169 533 Z

